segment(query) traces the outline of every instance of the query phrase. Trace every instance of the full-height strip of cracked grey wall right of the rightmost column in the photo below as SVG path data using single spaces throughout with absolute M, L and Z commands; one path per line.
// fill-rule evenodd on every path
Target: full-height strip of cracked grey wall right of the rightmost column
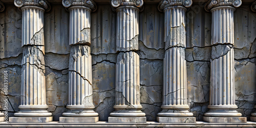
M 244 117 L 255 111 L 256 101 L 256 13 L 249 7 L 242 5 L 234 12 L 235 99 Z

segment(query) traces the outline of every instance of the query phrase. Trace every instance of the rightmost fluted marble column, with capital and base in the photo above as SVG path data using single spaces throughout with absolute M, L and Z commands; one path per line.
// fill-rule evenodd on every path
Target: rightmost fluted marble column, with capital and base
M 211 62 L 209 111 L 203 120 L 212 123 L 246 122 L 237 112 L 234 99 L 234 7 L 241 0 L 232 2 L 212 0 L 205 6 L 211 11 Z M 233 6 L 233 7 L 232 7 Z

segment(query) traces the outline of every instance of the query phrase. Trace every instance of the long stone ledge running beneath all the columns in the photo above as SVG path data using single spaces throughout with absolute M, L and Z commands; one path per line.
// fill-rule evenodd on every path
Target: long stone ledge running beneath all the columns
M 196 123 L 158 123 L 147 121 L 146 123 L 108 123 L 99 121 L 97 123 L 6 123 L 0 122 L 0 127 L 256 127 L 256 122 L 247 123 L 207 123 L 197 121 Z

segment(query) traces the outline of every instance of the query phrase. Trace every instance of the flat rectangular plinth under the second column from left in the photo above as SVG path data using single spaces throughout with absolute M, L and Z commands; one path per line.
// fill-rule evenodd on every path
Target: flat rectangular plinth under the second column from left
M 60 123 L 96 123 L 99 117 L 59 117 Z

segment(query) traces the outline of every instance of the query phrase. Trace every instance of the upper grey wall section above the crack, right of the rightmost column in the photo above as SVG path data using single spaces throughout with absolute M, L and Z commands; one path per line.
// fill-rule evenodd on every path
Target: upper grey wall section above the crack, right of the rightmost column
M 234 58 L 255 57 L 256 13 L 251 12 L 249 5 L 242 5 L 234 15 Z

